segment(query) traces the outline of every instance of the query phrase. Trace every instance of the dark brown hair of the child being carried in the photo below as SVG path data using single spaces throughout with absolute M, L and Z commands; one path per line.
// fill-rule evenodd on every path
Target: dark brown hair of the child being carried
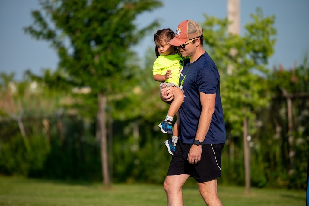
M 166 29 L 160 29 L 158 31 L 155 32 L 155 55 L 158 57 L 160 56 L 160 53 L 158 51 L 157 48 L 157 44 L 159 43 L 168 43 L 169 41 L 171 41 L 171 39 L 173 39 L 175 37 L 175 33 L 173 30 L 171 30 L 170 28 L 166 28 Z M 182 55 L 180 53 L 180 51 L 177 49 L 177 47 L 171 45 L 174 48 L 174 51 L 176 51 L 176 53 L 181 56 Z

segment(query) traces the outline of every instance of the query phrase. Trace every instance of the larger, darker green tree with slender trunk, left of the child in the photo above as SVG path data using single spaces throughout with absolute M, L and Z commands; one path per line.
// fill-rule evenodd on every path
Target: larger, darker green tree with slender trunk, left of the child
M 65 84 L 91 88 L 86 109 L 97 107 L 101 139 L 102 176 L 105 185 L 110 184 L 107 163 L 106 105 L 107 97 L 119 93 L 126 79 L 132 79 L 134 65 L 128 65 L 133 57 L 131 46 L 138 43 L 147 31 L 157 26 L 154 20 L 138 29 L 134 20 L 145 11 L 162 5 L 156 0 L 42 0 L 42 10 L 32 12 L 34 23 L 25 28 L 36 39 L 49 41 L 57 51 Z M 42 13 L 42 12 L 45 12 Z

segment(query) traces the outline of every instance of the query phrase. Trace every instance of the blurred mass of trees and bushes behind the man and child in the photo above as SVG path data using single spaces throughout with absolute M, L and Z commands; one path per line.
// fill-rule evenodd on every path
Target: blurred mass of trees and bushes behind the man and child
M 154 20 L 137 29 L 136 16 L 162 2 L 47 0 L 40 5 L 25 32 L 49 42 L 60 61 L 56 71 L 39 76 L 27 71 L 21 81 L 14 73 L 1 73 L 0 174 L 163 183 L 171 156 L 163 144 L 169 136 L 158 123 L 168 105 L 152 78 L 154 48 L 143 66 L 131 49 L 159 26 Z M 244 185 L 247 156 L 252 186 L 304 189 L 308 61 L 292 69 L 267 68 L 276 43 L 275 17 L 264 17 L 257 8 L 251 18 L 243 36 L 227 32 L 227 19 L 205 14 L 201 24 L 205 50 L 221 75 L 226 144 L 218 182 Z

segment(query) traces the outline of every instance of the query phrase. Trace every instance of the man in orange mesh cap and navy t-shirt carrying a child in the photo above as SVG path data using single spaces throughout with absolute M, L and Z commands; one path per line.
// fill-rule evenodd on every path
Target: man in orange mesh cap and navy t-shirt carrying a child
M 209 205 L 222 205 L 217 192 L 221 176 L 221 151 L 226 134 L 220 97 L 220 76 L 203 48 L 203 30 L 192 20 L 181 22 L 169 44 L 177 46 L 185 62 L 179 86 L 184 92 L 180 112 L 180 137 L 164 189 L 169 206 L 183 205 L 182 186 L 189 177 Z M 161 89 L 162 101 L 173 99 L 172 87 Z

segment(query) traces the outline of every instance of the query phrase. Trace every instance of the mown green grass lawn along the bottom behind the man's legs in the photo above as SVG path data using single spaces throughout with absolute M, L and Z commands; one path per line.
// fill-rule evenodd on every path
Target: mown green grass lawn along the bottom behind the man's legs
M 193 186 L 190 186 L 193 185 Z M 305 191 L 251 188 L 218 185 L 219 197 L 225 206 L 306 204 Z M 205 205 L 197 186 L 189 182 L 183 188 L 184 205 Z M 163 185 L 60 182 L 53 180 L 0 177 L 0 205 L 104 205 L 158 206 L 167 205 Z

